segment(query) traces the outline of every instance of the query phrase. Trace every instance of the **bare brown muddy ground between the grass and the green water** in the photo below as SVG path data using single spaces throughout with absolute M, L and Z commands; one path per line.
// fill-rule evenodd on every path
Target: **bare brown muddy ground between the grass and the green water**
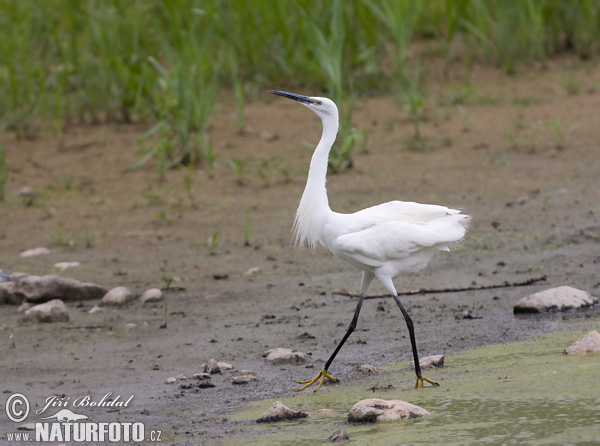
M 399 290 L 547 276 L 528 287 L 404 297 L 421 355 L 598 328 L 597 307 L 537 317 L 512 312 L 522 296 L 552 286 L 600 294 L 598 73 L 597 61 L 565 59 L 514 77 L 476 68 L 470 83 L 432 74 L 423 133 L 434 144 L 426 153 L 405 148 L 412 127 L 393 98 L 357 101 L 354 122 L 369 137 L 354 152 L 354 167 L 329 177 L 332 209 L 353 212 L 397 199 L 460 207 L 473 216 L 464 243 L 426 270 L 398 277 Z M 170 171 L 163 181 L 151 165 L 126 171 L 139 159 L 141 124 L 80 126 L 25 141 L 4 135 L 5 272 L 59 273 L 126 286 L 136 295 L 164 287 L 164 277 L 180 281 L 168 294 L 166 329 L 160 328 L 164 303 L 95 314 L 88 311 L 96 302 L 70 303 L 70 322 L 35 326 L 19 325 L 16 307 L 1 307 L 3 405 L 14 392 L 35 408 L 50 395 L 134 395 L 127 408 L 86 413 L 95 421 L 142 421 L 162 430 L 167 443 L 210 444 L 244 435 L 245 426 L 228 418 L 243 402 L 290 395 L 299 380 L 317 373 L 355 308 L 355 300 L 332 292 L 358 291 L 360 281 L 358 271 L 323 249 L 298 252 L 290 245 L 320 122 L 304 107 L 264 94 L 246 107 L 240 134 L 234 110 L 224 93 L 210 133 L 217 154 L 212 178 L 205 167 Z M 243 162 L 243 185 L 230 159 Z M 36 193 L 31 206 L 17 197 L 23 187 Z M 18 256 L 38 246 L 51 253 Z M 58 272 L 53 265 L 60 261 L 81 266 Z M 258 272 L 244 274 L 254 267 Z M 383 288 L 374 284 L 370 291 Z M 476 318 L 455 319 L 465 309 Z M 309 364 L 265 365 L 261 355 L 274 347 L 306 352 Z M 410 357 L 393 301 L 368 300 L 330 372 L 343 385 L 360 379 L 361 364 Z M 211 358 L 253 370 L 257 380 L 234 386 L 225 373 L 208 389 L 164 383 L 201 372 Z M 414 376 L 401 374 L 394 385 L 412 386 Z M 0 417 L 1 438 L 15 429 Z

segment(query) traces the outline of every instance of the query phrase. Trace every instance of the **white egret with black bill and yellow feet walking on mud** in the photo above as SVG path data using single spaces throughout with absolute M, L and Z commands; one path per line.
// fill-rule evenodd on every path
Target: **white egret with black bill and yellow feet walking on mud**
M 335 103 L 327 98 L 284 91 L 269 90 L 269 93 L 301 103 L 321 118 L 323 123 L 323 135 L 313 153 L 306 187 L 296 212 L 296 244 L 308 245 L 311 249 L 323 245 L 362 271 L 358 303 L 346 334 L 319 374 L 301 381 L 300 384 L 304 386 L 298 391 L 318 382 L 316 392 L 325 378 L 337 381 L 329 375 L 329 367 L 356 328 L 364 297 L 374 278 L 379 279 L 392 295 L 406 321 L 417 375 L 415 387 L 422 387 L 424 382 L 437 386 L 436 382 L 421 374 L 413 322 L 398 298 L 392 279 L 401 272 L 424 268 L 437 251 L 449 251 L 452 244 L 465 235 L 470 216 L 444 206 L 403 201 L 390 201 L 353 214 L 332 211 L 325 182 L 329 151 L 339 126 Z

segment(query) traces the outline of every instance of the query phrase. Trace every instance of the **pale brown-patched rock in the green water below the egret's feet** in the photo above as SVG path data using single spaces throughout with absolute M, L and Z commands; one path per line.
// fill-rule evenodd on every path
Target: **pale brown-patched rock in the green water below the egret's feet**
M 361 400 L 352 406 L 349 423 L 375 423 L 406 420 L 431 415 L 422 407 L 400 400 L 386 401 L 379 398 Z

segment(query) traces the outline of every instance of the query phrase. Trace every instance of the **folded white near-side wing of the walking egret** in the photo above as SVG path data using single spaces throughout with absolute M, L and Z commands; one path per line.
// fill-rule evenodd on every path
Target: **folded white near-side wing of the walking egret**
M 466 231 L 463 221 L 468 217 L 456 212 L 427 222 L 388 221 L 376 224 L 337 237 L 332 250 L 341 257 L 374 267 L 406 258 L 423 248 L 448 250 Z

